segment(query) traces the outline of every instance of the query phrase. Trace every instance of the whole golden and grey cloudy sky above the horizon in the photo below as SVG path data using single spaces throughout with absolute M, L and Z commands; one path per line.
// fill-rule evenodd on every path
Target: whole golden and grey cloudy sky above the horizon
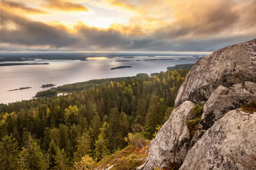
M 1 0 L 3 52 L 212 52 L 256 38 L 256 0 Z

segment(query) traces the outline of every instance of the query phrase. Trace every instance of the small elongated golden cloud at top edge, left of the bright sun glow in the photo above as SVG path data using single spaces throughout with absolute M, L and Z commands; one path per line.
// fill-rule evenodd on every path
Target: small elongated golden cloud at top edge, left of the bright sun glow
M 62 11 L 89 11 L 84 5 L 62 0 L 45 0 L 45 3 L 43 3 L 42 6 L 48 9 Z

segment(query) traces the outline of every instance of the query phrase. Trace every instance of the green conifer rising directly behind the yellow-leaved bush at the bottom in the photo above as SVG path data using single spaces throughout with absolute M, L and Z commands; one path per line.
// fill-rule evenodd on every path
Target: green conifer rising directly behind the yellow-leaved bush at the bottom
M 89 155 L 89 156 L 91 155 L 92 139 L 89 135 L 89 131 L 83 132 L 82 136 L 78 138 L 77 142 L 78 142 L 78 145 L 76 145 L 77 151 L 74 153 L 76 162 L 80 161 L 81 157 L 83 157 L 84 155 Z

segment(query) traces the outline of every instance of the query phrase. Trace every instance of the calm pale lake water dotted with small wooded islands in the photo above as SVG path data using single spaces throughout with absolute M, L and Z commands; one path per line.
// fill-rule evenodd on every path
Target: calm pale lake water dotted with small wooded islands
M 2 66 L 0 67 L 0 103 L 29 100 L 31 97 L 35 96 L 36 92 L 51 88 L 40 88 L 42 84 L 53 83 L 56 84 L 55 87 L 57 87 L 63 84 L 82 82 L 91 79 L 136 76 L 138 73 L 147 73 L 150 75 L 153 72 L 166 71 L 166 68 L 169 66 L 195 63 L 198 60 L 179 59 L 185 57 L 187 56 L 121 58 L 121 60 L 133 60 L 128 62 L 115 62 L 117 60 L 115 58 L 107 59 L 103 57 L 89 58 L 89 61 L 36 59 L 35 61 L 25 61 L 22 63 L 50 64 Z M 174 60 L 143 61 L 145 59 L 161 58 L 173 58 Z M 196 57 L 190 56 L 190 58 Z M 112 67 L 117 66 L 132 66 L 132 68 L 110 70 Z M 32 88 L 7 92 L 7 90 L 26 86 Z

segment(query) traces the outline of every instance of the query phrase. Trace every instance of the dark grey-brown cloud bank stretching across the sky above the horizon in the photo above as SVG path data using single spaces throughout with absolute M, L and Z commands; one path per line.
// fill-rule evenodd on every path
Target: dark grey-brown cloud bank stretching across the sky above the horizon
M 249 12 L 238 15 L 231 7 L 220 7 L 199 14 L 193 13 L 196 15 L 193 18 L 204 14 L 200 21 L 195 19 L 186 24 L 179 19 L 174 22 L 176 25 L 141 35 L 113 28 L 89 27 L 83 23 L 75 25 L 71 32 L 63 25 L 53 26 L 32 21 L 1 8 L 1 51 L 215 51 L 256 38 L 255 29 L 246 31 L 254 27 L 244 28 L 246 33 L 243 34 L 232 33 L 232 29 L 241 31 L 241 28 L 234 27 L 241 22 L 241 18 L 244 19 L 241 22 L 244 25 L 255 26 L 255 22 L 250 23 L 253 18 L 249 17 Z M 255 9 L 248 11 L 255 12 Z M 16 29 L 8 28 L 9 23 L 14 23 Z M 8 44 L 11 47 L 8 48 Z

